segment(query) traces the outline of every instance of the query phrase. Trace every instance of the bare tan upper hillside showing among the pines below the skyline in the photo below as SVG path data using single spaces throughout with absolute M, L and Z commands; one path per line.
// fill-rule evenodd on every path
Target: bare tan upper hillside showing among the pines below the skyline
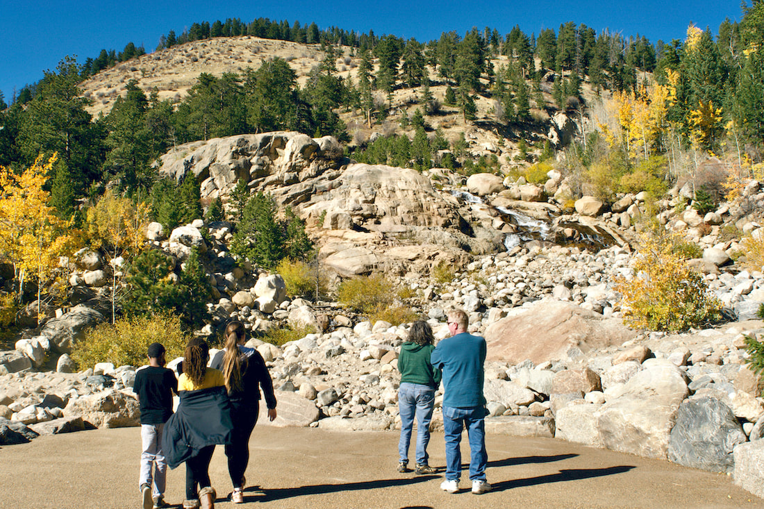
M 342 47 L 338 51 L 337 70 L 338 75 L 345 79 L 352 79 L 357 83 L 357 72 L 360 58 L 355 54 L 356 48 Z M 221 76 L 223 73 L 243 74 L 247 68 L 257 69 L 264 61 L 283 58 L 286 60 L 297 76 L 299 86 L 304 86 L 310 71 L 318 66 L 324 52 L 318 44 L 298 44 L 291 41 L 276 41 L 261 39 L 259 37 L 216 37 L 203 41 L 193 41 L 159 50 L 151 54 L 143 55 L 128 62 L 118 65 L 93 76 L 81 84 L 83 96 L 92 101 L 88 111 L 95 117 L 107 115 L 118 96 L 125 96 L 125 85 L 135 79 L 138 86 L 151 93 L 157 90 L 159 99 L 170 99 L 174 103 L 180 103 L 189 89 L 196 83 L 200 73 L 210 73 L 213 76 Z M 498 69 L 507 63 L 507 57 L 499 56 L 492 59 L 494 68 Z M 432 96 L 439 101 L 439 112 L 428 115 L 426 122 L 432 131 L 442 129 L 448 141 L 456 141 L 461 133 L 465 134 L 471 154 L 478 158 L 481 155 L 496 155 L 504 168 L 527 166 L 525 161 L 517 161 L 520 154 L 517 142 L 525 139 L 531 143 L 536 142 L 537 148 L 546 139 L 551 139 L 554 144 L 563 144 L 569 141 L 571 135 L 578 131 L 577 124 L 586 122 L 585 115 L 579 112 L 565 115 L 555 112 L 553 109 L 552 83 L 542 81 L 541 89 L 548 108 L 539 109 L 532 101 L 530 122 L 523 125 L 507 126 L 497 122 L 496 103 L 489 95 L 477 96 L 476 118 L 473 122 L 465 122 L 459 114 L 458 108 L 445 105 L 445 91 L 448 86 L 445 81 L 431 67 L 427 67 L 429 78 L 432 80 Z M 485 88 L 487 82 L 484 80 Z M 378 104 L 387 105 L 387 94 L 381 90 L 374 92 L 374 100 Z M 390 135 L 403 133 L 400 128 L 400 118 L 405 112 L 410 118 L 417 108 L 421 109 L 419 97 L 422 96 L 421 87 L 403 88 L 398 87 L 391 96 L 392 108 L 387 119 L 381 124 L 371 127 L 364 122 L 362 112 L 340 112 L 342 119 L 348 126 L 352 144 L 362 144 L 368 141 L 374 133 Z M 597 96 L 591 87 L 584 83 L 582 86 L 584 104 L 594 104 Z M 568 118 L 570 117 L 570 118 Z M 413 128 L 406 133 L 413 137 Z

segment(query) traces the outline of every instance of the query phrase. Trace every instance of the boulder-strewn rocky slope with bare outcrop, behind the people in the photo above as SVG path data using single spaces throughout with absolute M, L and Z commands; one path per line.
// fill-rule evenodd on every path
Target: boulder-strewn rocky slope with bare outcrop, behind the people
M 724 238 L 726 225 L 759 228 L 750 209 L 725 204 L 701 218 L 676 206 L 681 189 L 659 203 L 663 224 L 704 248 L 694 264 L 735 316 L 665 335 L 624 327 L 613 285 L 633 274 L 633 222 L 646 211 L 640 195 L 623 196 L 610 210 L 580 199 L 573 212 L 565 208 L 568 183 L 555 172 L 543 186 L 488 175 L 465 179 L 441 169 L 422 175 L 355 164 L 332 138 L 297 133 L 180 147 L 163 157 L 160 171 L 192 172 L 206 198 L 225 196 L 238 179 L 273 193 L 306 219 L 326 271 L 337 277 L 386 271 L 413 290 L 410 306 L 438 338 L 447 334 L 446 311 L 464 308 L 471 330 L 489 342 L 490 433 L 556 436 L 733 472 L 746 489 L 764 494 L 756 462 L 764 407 L 743 342 L 764 332 L 755 319 L 764 275 L 737 266 L 730 255 L 739 239 Z M 744 195 L 749 203 L 764 200 L 759 183 Z M 397 349 L 406 326 L 286 298 L 280 276 L 235 263 L 230 235 L 228 223 L 202 220 L 147 232 L 148 242 L 179 261 L 193 245 L 205 252 L 216 297 L 204 332 L 215 333 L 231 318 L 254 332 L 283 323 L 319 330 L 282 348 L 251 341 L 280 390 L 276 425 L 394 429 Z M 454 268 L 445 283 L 430 277 L 439 262 Z M 104 319 L 99 303 L 110 291 L 110 269 L 98 253 L 81 251 L 70 270 L 72 306 L 0 355 L 4 440 L 138 422 L 130 389 L 135 367 L 69 372 L 66 353 L 84 328 Z

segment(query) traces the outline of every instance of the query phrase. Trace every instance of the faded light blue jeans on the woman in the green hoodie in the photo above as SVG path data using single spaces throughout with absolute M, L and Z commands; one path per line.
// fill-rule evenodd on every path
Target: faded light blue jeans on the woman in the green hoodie
M 398 412 L 400 413 L 400 440 L 398 456 L 401 462 L 409 462 L 409 444 L 416 414 L 416 462 L 428 465 L 427 444 L 429 423 L 435 407 L 435 389 L 429 385 L 404 382 L 398 389 Z

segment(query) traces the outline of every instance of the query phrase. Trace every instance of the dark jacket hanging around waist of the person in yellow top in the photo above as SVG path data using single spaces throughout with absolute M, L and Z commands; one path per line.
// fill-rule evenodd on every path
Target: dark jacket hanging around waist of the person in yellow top
M 178 410 L 162 433 L 167 465 L 176 468 L 202 447 L 230 444 L 232 427 L 231 401 L 225 387 L 180 391 Z

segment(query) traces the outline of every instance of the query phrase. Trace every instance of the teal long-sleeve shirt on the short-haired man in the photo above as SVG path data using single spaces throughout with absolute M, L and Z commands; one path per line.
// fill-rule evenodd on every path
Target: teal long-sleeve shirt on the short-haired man
M 461 332 L 435 346 L 430 361 L 443 371 L 443 406 L 481 407 L 485 404 L 483 381 L 485 339 Z

